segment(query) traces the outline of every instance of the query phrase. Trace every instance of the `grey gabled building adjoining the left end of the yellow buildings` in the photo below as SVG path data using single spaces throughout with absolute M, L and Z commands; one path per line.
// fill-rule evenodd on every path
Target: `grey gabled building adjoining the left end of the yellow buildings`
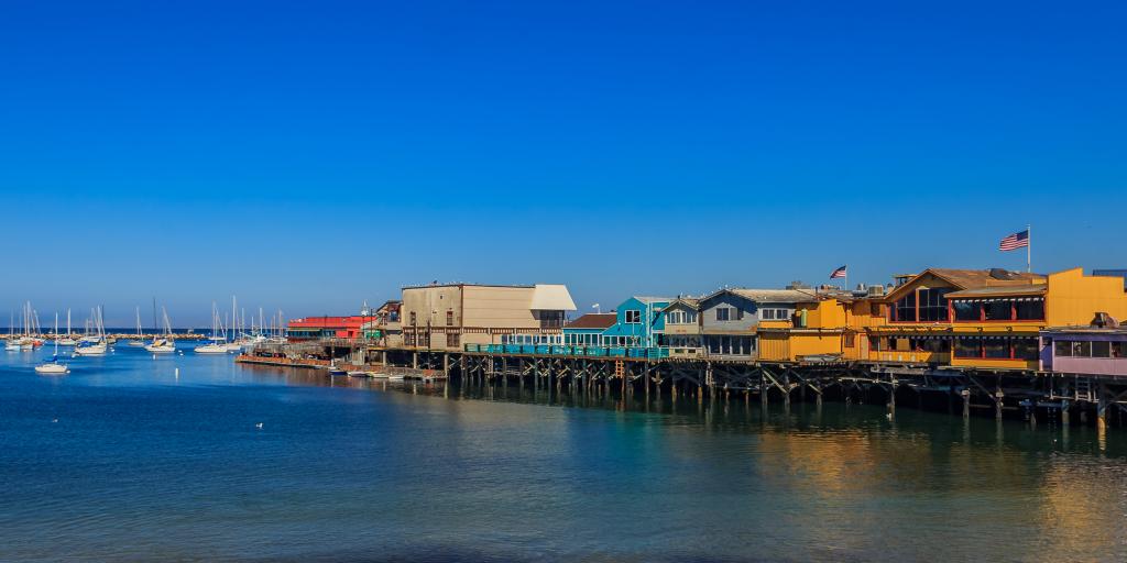
M 702 351 L 710 358 L 754 359 L 761 322 L 788 321 L 813 289 L 725 288 L 700 300 Z

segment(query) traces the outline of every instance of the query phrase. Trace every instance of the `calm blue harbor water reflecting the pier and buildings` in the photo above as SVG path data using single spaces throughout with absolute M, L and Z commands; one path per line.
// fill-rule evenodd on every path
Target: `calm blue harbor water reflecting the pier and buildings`
M 1127 561 L 1115 429 L 48 355 L 0 356 L 2 561 Z

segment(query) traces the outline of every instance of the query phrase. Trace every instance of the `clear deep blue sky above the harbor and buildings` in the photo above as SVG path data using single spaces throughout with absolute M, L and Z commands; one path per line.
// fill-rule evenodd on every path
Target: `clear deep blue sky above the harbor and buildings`
M 1124 2 L 0 6 L 0 304 L 1127 266 Z M 6 322 L 0 321 L 0 322 Z

